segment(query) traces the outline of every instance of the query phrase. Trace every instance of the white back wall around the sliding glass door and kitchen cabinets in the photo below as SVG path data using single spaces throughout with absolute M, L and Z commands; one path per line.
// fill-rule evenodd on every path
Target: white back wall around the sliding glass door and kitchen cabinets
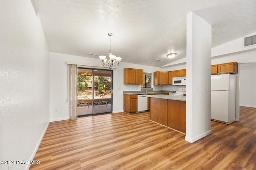
M 60 53 L 50 53 L 50 121 L 70 119 L 68 98 L 68 65 L 67 61 L 78 63 L 101 64 L 98 57 L 88 58 Z M 91 68 L 90 66 L 85 68 Z M 152 73 L 161 68 L 139 64 L 123 63 L 113 69 L 113 113 L 122 112 L 123 91 L 140 91 L 140 85 L 124 84 L 124 68 L 143 69 Z M 108 68 L 106 68 L 108 69 Z M 152 85 L 153 90 L 162 90 L 162 86 Z M 67 101 L 68 99 L 68 101 Z M 57 109 L 58 112 L 54 112 Z

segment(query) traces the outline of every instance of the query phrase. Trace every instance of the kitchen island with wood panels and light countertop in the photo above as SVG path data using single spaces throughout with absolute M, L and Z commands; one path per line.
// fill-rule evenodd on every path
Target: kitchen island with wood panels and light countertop
M 186 133 L 186 97 L 148 95 L 150 97 L 150 121 Z

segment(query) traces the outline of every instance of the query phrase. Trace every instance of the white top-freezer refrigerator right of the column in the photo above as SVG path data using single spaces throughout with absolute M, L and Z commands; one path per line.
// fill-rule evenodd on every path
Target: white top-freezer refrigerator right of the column
M 236 76 L 212 75 L 211 120 L 230 124 L 236 117 Z

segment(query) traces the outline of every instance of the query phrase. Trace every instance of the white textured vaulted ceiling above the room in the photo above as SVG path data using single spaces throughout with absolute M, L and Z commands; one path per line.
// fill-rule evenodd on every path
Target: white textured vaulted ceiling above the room
M 163 66 L 186 57 L 186 16 L 212 25 L 212 47 L 256 32 L 256 1 L 32 0 L 51 52 Z M 174 59 L 166 57 L 176 52 Z M 163 60 L 162 62 L 155 61 Z M 100 60 L 99 60 L 100 63 Z

